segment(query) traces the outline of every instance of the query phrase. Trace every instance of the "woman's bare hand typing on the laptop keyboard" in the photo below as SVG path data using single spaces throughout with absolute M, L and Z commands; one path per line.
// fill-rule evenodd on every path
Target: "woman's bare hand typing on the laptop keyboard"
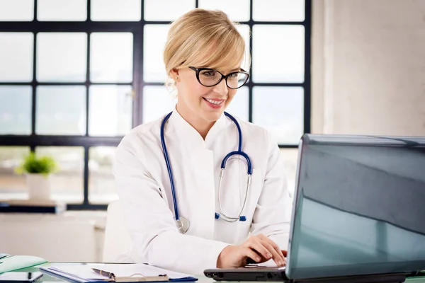
M 255 262 L 266 262 L 273 259 L 278 266 L 284 266 L 286 259 L 282 250 L 263 234 L 249 237 L 239 246 L 227 246 L 217 258 L 218 268 L 243 267 L 246 260 L 251 258 Z

